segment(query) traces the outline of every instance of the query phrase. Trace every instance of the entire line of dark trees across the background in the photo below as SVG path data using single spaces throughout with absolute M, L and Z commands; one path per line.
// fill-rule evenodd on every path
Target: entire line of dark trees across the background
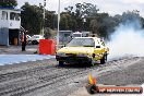
M 4 1 L 8 3 L 0 2 L 0 7 L 5 4 L 15 7 L 17 4 L 16 0 Z M 50 29 L 57 29 L 58 14 L 55 11 L 46 9 L 46 17 L 44 20 L 44 7 L 40 3 L 39 5 L 31 5 L 28 2 L 25 2 L 21 9 L 23 10 L 21 13 L 22 26 L 28 31 L 29 35 L 41 34 L 43 26 L 45 26 L 45 34 L 47 35 L 50 35 Z M 60 13 L 60 29 L 73 32 L 87 31 L 108 38 L 120 23 L 135 20 L 139 20 L 142 27 L 144 27 L 144 19 L 140 16 L 137 10 L 111 16 L 108 13 L 100 13 L 96 4 L 83 2 L 64 8 L 64 11 Z

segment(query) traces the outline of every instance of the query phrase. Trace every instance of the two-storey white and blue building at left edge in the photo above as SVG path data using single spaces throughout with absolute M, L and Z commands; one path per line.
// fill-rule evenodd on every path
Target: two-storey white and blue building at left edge
M 21 9 L 0 8 L 0 45 L 20 44 Z

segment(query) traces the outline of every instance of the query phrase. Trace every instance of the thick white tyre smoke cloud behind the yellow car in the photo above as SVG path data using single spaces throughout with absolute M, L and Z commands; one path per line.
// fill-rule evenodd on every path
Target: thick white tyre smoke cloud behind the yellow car
M 107 43 L 109 59 L 125 56 L 144 57 L 144 29 L 139 21 L 120 24 Z

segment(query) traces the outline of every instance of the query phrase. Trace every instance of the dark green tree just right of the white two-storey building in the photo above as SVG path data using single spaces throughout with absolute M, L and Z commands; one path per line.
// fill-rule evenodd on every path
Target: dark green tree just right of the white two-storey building
M 29 5 L 26 2 L 22 9 L 22 26 L 28 34 L 39 34 L 43 26 L 43 9 L 37 5 Z

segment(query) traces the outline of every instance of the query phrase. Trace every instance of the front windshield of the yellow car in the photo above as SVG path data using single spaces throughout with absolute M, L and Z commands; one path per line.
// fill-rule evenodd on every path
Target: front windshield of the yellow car
M 95 41 L 93 38 L 74 38 L 69 44 L 68 47 L 95 47 Z

